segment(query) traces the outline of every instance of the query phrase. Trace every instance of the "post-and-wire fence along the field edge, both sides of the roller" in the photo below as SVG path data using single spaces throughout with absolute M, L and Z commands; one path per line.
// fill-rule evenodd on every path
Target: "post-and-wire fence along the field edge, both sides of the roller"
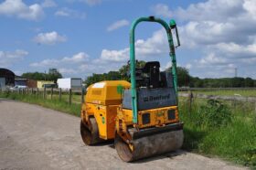
M 80 103 L 83 102 L 84 89 L 57 89 L 57 88 L 27 88 L 19 90 L 1 90 L 4 92 L 13 92 L 17 94 L 33 94 L 47 99 L 59 99 Z M 256 88 L 179 88 L 179 97 L 188 99 L 207 99 L 221 101 L 240 101 L 251 102 L 256 105 Z

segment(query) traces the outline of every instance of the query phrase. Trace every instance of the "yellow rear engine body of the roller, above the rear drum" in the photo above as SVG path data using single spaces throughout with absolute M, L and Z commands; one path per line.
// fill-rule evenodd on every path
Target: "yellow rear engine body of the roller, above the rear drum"
M 119 87 L 129 89 L 130 83 L 125 80 L 101 81 L 92 84 L 84 96 L 81 120 L 88 124 L 89 118 L 94 117 L 98 124 L 100 138 L 104 140 L 114 138 L 117 108 L 122 102 Z

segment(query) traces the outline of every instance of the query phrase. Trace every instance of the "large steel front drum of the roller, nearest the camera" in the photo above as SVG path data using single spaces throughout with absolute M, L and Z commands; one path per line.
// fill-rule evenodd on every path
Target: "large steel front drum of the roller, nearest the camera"
M 128 144 L 117 134 L 114 145 L 117 154 L 124 162 L 132 162 L 152 155 L 176 151 L 181 148 L 183 139 L 183 130 L 176 130 L 133 139 Z

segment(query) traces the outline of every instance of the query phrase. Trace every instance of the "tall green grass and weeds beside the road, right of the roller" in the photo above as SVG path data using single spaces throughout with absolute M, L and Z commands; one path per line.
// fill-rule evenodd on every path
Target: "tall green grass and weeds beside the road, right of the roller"
M 180 116 L 185 122 L 183 148 L 256 168 L 255 106 L 240 103 L 233 108 L 228 103 L 222 105 L 225 109 L 212 109 L 206 101 L 199 100 L 189 111 L 187 101 L 181 101 Z M 208 108 L 208 112 L 204 112 L 204 108 Z M 219 116 L 211 116 L 214 112 Z

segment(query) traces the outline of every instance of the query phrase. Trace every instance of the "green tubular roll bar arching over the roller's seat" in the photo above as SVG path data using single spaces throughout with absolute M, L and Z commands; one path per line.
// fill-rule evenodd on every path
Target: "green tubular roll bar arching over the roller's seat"
M 136 80 L 135 80 L 135 46 L 134 46 L 134 31 L 135 27 L 140 23 L 140 22 L 156 22 L 161 24 L 163 27 L 165 27 L 165 31 L 168 37 L 168 43 L 169 43 L 169 48 L 170 48 L 170 53 L 169 56 L 172 59 L 172 74 L 174 78 L 174 87 L 176 90 L 176 98 L 177 98 L 177 78 L 176 78 L 176 52 L 175 52 L 175 46 L 174 46 L 174 41 L 172 37 L 172 32 L 171 29 L 176 30 L 176 39 L 177 39 L 177 47 L 180 46 L 180 41 L 178 37 L 178 32 L 176 28 L 176 21 L 175 20 L 170 20 L 169 26 L 168 24 L 155 16 L 149 16 L 149 17 L 140 17 L 137 18 L 133 21 L 132 27 L 130 28 L 130 73 L 131 73 L 131 84 L 132 84 L 132 107 L 133 107 L 133 123 L 138 122 L 138 108 L 137 108 L 137 91 L 136 91 Z

